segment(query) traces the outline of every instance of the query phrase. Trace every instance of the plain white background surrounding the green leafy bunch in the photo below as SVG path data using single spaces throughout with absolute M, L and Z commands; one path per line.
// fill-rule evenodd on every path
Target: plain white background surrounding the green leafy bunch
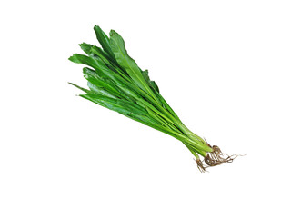
M 290 217 L 290 1 L 2 1 L 0 217 Z M 228 154 L 76 97 L 67 58 L 115 29 L 185 124 Z

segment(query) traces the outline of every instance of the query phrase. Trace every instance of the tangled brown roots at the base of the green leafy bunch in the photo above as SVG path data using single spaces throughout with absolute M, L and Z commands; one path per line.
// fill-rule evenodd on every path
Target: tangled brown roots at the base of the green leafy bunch
M 232 163 L 234 159 L 236 159 L 236 157 L 238 156 L 237 154 L 229 156 L 222 153 L 218 146 L 211 146 L 210 144 L 208 145 L 213 149 L 213 152 L 208 153 L 203 161 L 201 161 L 200 159 L 196 160 L 197 167 L 200 172 L 206 172 L 206 168 L 210 166 L 216 166 L 222 163 Z

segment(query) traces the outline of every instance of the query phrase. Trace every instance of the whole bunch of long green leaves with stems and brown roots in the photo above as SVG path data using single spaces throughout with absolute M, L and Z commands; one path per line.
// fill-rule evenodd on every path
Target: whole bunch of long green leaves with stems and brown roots
M 87 55 L 73 54 L 69 58 L 88 66 L 83 68 L 83 74 L 89 89 L 73 84 L 85 92 L 81 97 L 175 137 L 194 154 L 202 172 L 206 167 L 233 161 L 235 157 L 223 154 L 216 145 L 207 144 L 180 121 L 156 83 L 150 80 L 148 71 L 141 70 L 128 55 L 119 34 L 111 30 L 108 37 L 97 25 L 94 30 L 102 48 L 83 43 L 80 47 Z

